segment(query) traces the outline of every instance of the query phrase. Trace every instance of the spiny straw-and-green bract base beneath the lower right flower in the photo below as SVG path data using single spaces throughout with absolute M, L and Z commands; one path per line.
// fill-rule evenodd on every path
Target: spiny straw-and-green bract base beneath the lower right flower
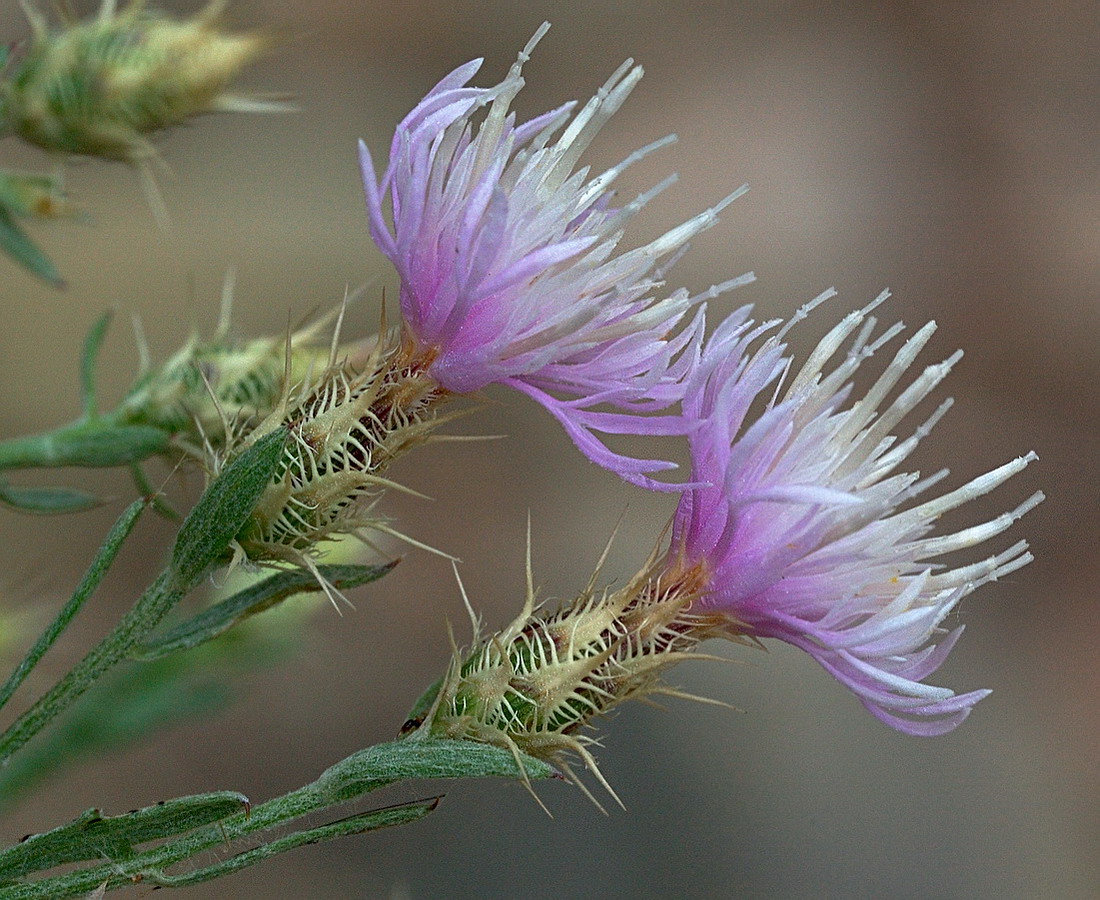
M 403 732 L 527 754 L 583 789 L 566 761 L 572 754 L 615 797 L 583 731 L 627 700 L 685 695 L 661 681 L 663 671 L 702 658 L 702 640 L 733 636 L 727 616 L 692 610 L 702 583 L 700 572 L 662 571 L 650 560 L 620 590 L 596 593 L 590 584 L 557 611 L 536 608 L 529 589 L 507 628 L 455 650 L 430 709 Z

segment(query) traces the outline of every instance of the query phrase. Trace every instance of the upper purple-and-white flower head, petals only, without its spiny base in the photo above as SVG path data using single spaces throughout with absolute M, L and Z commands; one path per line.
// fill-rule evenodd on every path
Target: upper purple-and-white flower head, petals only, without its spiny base
M 361 143 L 371 234 L 400 275 L 405 328 L 444 388 L 464 394 L 497 383 L 521 391 L 591 460 L 661 487 L 647 474 L 672 463 L 613 452 L 594 432 L 683 433 L 681 417 L 648 414 L 683 396 L 698 359 L 703 303 L 752 276 L 696 296 L 653 292 L 686 242 L 744 188 L 616 255 L 625 226 L 672 179 L 624 206 L 613 202 L 613 183 L 673 139 L 593 178 L 587 168 L 574 171 L 641 78 L 629 59 L 579 111 L 565 103 L 517 125 L 508 107 L 547 28 L 495 87 L 468 87 L 480 59 L 436 85 L 397 127 L 381 179 Z

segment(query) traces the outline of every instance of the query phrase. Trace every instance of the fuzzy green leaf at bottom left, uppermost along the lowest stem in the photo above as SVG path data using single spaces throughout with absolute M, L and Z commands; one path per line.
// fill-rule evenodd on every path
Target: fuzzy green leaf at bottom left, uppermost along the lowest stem
M 177 797 L 124 815 L 105 816 L 100 810 L 87 810 L 65 825 L 32 834 L 0 850 L 0 879 L 19 878 L 67 863 L 99 861 L 105 856 L 123 860 L 133 856 L 138 844 L 185 834 L 250 806 L 243 793 L 215 791 Z

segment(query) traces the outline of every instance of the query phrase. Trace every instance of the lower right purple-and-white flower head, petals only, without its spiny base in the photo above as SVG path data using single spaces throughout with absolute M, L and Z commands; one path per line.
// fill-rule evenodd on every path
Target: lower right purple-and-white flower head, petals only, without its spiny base
M 1019 541 L 971 564 L 939 558 L 1001 534 L 1043 494 L 990 522 L 931 534 L 941 515 L 989 493 L 1035 454 L 934 500 L 916 500 L 946 470 L 925 479 L 895 470 L 952 402 L 911 437 L 898 440 L 892 432 L 961 351 L 925 369 L 880 411 L 932 337 L 935 323 L 928 322 L 854 399 L 850 376 L 901 330 L 898 325 L 872 339 L 869 314 L 887 296 L 847 316 L 793 377 L 782 344 L 793 321 L 759 344 L 777 323 L 754 327 L 747 309 L 718 329 L 684 400 L 685 413 L 701 421 L 690 437 L 692 479 L 700 484 L 681 497 L 668 566 L 704 574 L 694 608 L 728 615 L 732 634 L 801 647 L 881 721 L 935 735 L 958 725 L 989 693 L 957 695 L 924 683 L 963 632 L 960 625 L 945 633 L 944 621 L 964 596 L 1032 555 Z M 847 354 L 828 367 L 853 334 Z M 755 404 L 763 409 L 751 420 Z

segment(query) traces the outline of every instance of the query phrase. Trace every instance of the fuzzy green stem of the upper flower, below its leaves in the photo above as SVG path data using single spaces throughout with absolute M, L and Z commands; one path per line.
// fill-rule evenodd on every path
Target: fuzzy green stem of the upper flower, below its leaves
M 156 627 L 185 593 L 186 589 L 172 570 L 162 572 L 114 629 L 0 735 L 0 767 L 6 766 L 20 747 L 87 691 L 96 679 L 125 658 L 130 649 Z

